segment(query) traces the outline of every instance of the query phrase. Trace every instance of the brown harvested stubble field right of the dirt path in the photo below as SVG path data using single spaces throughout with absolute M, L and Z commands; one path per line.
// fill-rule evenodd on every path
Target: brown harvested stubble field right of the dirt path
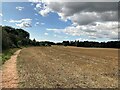
M 118 49 L 24 48 L 17 70 L 20 88 L 116 88 Z

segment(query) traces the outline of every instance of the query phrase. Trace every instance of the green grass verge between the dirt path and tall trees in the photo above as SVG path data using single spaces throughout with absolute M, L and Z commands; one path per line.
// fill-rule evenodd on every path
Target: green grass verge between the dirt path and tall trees
M 4 50 L 2 54 L 0 54 L 0 62 L 1 64 L 4 64 L 5 61 L 10 59 L 10 57 L 18 50 L 19 48 L 13 48 L 13 49 L 8 49 Z

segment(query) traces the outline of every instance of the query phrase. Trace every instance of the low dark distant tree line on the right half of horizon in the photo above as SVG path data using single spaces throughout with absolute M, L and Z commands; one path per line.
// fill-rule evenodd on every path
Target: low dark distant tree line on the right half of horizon
M 64 46 L 120 48 L 120 41 L 94 42 L 94 41 L 63 41 Z

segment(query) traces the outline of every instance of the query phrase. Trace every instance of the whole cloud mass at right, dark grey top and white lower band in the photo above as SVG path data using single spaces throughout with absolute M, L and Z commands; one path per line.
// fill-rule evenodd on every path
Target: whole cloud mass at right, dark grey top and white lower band
M 71 26 L 47 28 L 47 31 L 86 36 L 88 39 L 118 37 L 117 2 L 43 2 L 39 7 L 37 10 L 42 16 L 55 12 L 61 20 L 72 21 Z

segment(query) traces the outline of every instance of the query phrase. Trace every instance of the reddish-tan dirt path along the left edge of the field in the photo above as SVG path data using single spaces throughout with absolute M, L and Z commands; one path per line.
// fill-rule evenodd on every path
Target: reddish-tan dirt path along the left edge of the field
M 2 88 L 17 88 L 18 75 L 16 68 L 16 59 L 21 50 L 14 53 L 11 58 L 3 65 Z

